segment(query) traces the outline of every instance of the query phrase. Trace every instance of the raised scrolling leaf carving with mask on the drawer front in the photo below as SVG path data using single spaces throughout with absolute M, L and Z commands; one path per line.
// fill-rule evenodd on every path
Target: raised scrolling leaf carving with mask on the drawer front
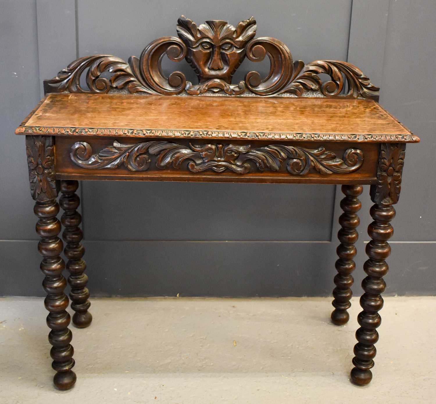
M 157 156 L 156 167 L 181 168 L 187 160 L 191 172 L 226 170 L 246 174 L 257 167 L 259 171 L 268 168 L 279 171 L 286 162 L 286 169 L 293 175 L 305 175 L 311 168 L 320 174 L 350 173 L 358 170 L 364 160 L 360 149 L 347 149 L 343 160 L 324 147 L 307 149 L 298 146 L 272 144 L 251 148 L 249 144 L 182 144 L 167 141 L 149 141 L 136 144 L 121 144 L 114 141 L 112 146 L 92 154 L 86 142 L 72 145 L 70 157 L 83 168 L 118 168 L 124 165 L 130 171 L 146 171 L 150 167 L 150 155 Z M 254 163 L 254 164 L 252 164 Z

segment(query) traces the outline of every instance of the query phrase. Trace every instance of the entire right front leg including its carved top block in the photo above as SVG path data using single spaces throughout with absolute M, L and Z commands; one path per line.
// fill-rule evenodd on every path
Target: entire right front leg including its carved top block
M 362 281 L 364 294 L 360 305 L 363 311 L 358 315 L 360 328 L 356 332 L 358 343 L 354 346 L 354 368 L 351 370 L 351 381 L 359 386 L 372 379 L 371 368 L 377 353 L 374 344 L 378 341 L 377 328 L 381 324 L 378 311 L 383 307 L 381 293 L 386 288 L 383 277 L 389 269 L 385 259 L 391 253 L 388 240 L 394 233 L 389 222 L 395 217 L 392 204 L 399 199 L 404 155 L 405 144 L 381 144 L 377 184 L 371 185 L 371 200 L 375 205 L 370 213 L 374 221 L 368 226 L 371 241 L 366 246 L 369 259 L 364 264 L 368 276 Z

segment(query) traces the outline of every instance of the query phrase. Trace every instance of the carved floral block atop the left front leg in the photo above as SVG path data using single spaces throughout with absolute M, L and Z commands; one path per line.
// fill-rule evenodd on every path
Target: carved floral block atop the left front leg
M 51 136 L 26 136 L 27 166 L 32 198 L 47 201 L 58 196 Z

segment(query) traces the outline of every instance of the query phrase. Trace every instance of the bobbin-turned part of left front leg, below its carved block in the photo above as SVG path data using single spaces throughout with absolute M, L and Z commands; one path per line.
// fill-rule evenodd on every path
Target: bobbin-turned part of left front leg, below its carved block
M 63 245 L 58 237 L 61 231 L 61 223 L 56 218 L 59 212 L 58 202 L 55 199 L 36 202 L 34 212 L 39 218 L 36 232 L 41 237 L 38 250 L 43 256 L 41 271 L 45 278 L 42 286 L 47 293 L 44 305 L 50 312 L 47 325 L 51 328 L 48 340 L 53 346 L 50 351 L 53 359 L 51 366 L 57 372 L 53 382 L 58 389 L 68 390 L 74 386 L 76 375 L 71 370 L 74 366 L 74 349 L 70 344 L 72 332 L 68 329 L 70 315 L 65 311 L 68 308 L 68 297 L 64 293 L 67 282 L 62 276 L 65 262 L 59 257 Z

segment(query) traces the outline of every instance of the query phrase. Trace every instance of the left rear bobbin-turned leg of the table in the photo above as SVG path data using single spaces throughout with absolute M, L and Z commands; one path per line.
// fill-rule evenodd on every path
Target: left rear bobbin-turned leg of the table
M 80 199 L 75 193 L 77 188 L 78 181 L 61 181 L 62 196 L 59 203 L 65 211 L 61 218 L 65 226 L 62 238 L 66 243 L 64 253 L 68 258 L 67 270 L 70 273 L 68 283 L 71 287 L 71 308 L 75 311 L 73 324 L 78 328 L 85 328 L 91 324 L 92 315 L 88 312 L 91 305 L 88 300 L 89 291 L 86 288 L 88 276 L 83 273 L 86 269 L 86 263 L 82 260 L 85 248 L 80 243 L 83 236 L 78 226 L 82 222 L 82 216 L 76 210 L 80 205 Z

